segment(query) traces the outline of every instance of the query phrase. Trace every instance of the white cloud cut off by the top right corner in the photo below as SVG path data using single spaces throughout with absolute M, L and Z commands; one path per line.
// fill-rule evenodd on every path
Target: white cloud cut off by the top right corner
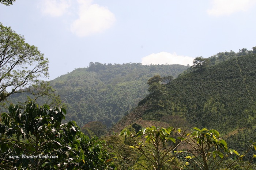
M 256 0 L 212 0 L 212 8 L 207 10 L 211 16 L 225 16 L 239 11 L 246 11 Z

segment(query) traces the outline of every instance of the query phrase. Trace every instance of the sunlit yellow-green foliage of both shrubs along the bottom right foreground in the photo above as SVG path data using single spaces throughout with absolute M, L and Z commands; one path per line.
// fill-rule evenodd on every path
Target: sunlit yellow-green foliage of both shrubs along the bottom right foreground
M 181 129 L 168 127 L 147 127 L 133 135 L 128 129 L 124 129 L 120 135 L 132 139 L 131 148 L 146 159 L 146 165 L 141 161 L 135 161 L 143 169 L 200 169 L 215 170 L 223 167 L 238 167 L 237 161 L 242 160 L 244 155 L 240 155 L 236 150 L 227 147 L 225 140 L 220 138 L 217 130 L 207 130 L 193 128 L 192 133 L 185 133 Z M 145 138 L 145 140 L 140 137 Z M 256 143 L 251 145 L 256 150 Z M 232 161 L 231 155 L 237 158 Z M 256 157 L 253 155 L 252 158 Z M 132 159 L 129 159 L 132 161 Z M 137 159 L 138 160 L 138 159 Z M 139 159 L 140 160 L 140 159 Z M 152 166 L 150 166 L 152 165 Z M 242 164 L 241 164 L 242 165 Z M 250 162 L 243 163 L 245 167 L 251 167 Z

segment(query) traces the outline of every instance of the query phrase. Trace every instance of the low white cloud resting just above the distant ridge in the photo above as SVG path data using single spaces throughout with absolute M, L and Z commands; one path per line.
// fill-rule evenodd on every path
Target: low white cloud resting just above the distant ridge
M 194 58 L 188 56 L 177 55 L 176 53 L 170 54 L 168 52 L 153 53 L 142 58 L 142 64 L 181 64 L 184 66 L 193 65 Z

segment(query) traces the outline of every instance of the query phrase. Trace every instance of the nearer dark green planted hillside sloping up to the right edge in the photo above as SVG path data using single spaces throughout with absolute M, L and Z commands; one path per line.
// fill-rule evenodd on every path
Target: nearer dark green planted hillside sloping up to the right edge
M 246 150 L 249 140 L 256 141 L 256 54 L 188 70 L 168 84 L 148 81 L 150 94 L 111 131 L 154 120 L 183 129 L 216 129 L 231 147 Z

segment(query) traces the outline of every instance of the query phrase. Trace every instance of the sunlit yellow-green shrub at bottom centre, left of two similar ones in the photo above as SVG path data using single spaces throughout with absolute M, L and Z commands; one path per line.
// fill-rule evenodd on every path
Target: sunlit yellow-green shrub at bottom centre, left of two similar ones
M 176 155 L 174 151 L 185 140 L 184 134 L 179 134 L 180 130 L 176 130 L 173 127 L 167 129 L 163 127 L 147 127 L 140 130 L 136 136 L 130 133 L 128 129 L 123 130 L 120 135 L 125 135 L 132 139 L 133 149 L 136 149 L 138 153 L 143 155 L 148 161 L 149 166 L 146 167 L 138 163 L 144 169 L 175 169 L 179 166 L 179 162 L 175 159 Z M 176 135 L 175 135 L 176 134 Z M 179 135 L 178 135 L 179 134 Z M 178 137 L 177 137 L 178 135 Z M 146 141 L 138 140 L 136 137 L 146 138 Z M 174 138 L 176 136 L 176 138 Z M 151 165 L 151 166 L 150 166 Z

